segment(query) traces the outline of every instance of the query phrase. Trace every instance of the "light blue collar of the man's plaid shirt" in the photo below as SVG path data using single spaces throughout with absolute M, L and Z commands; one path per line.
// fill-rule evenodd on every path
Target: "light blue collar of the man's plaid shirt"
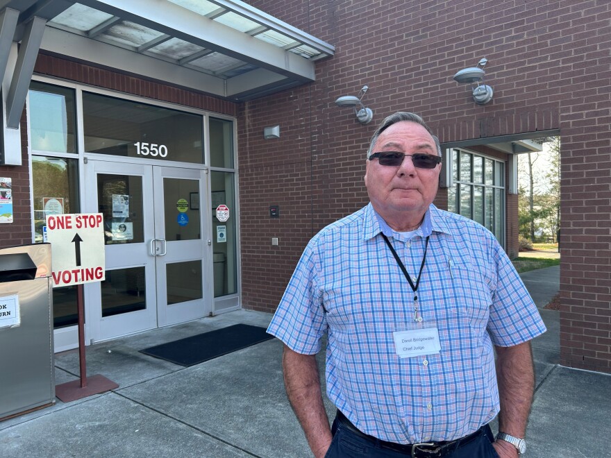
M 448 225 L 444 218 L 442 218 L 442 210 L 439 210 L 435 205 L 430 204 L 428 210 L 424 214 L 424 219 L 422 224 L 417 230 L 412 232 L 411 237 L 406 237 L 401 232 L 396 232 L 393 230 L 383 217 L 380 217 L 380 214 L 374 210 L 373 205 L 369 203 L 367 207 L 365 207 L 365 224 L 363 228 L 363 239 L 369 240 L 373 237 L 376 237 L 380 232 L 382 232 L 386 237 L 393 237 L 394 239 L 401 241 L 408 241 L 412 237 L 428 237 L 433 232 L 444 232 L 446 234 L 450 233 Z

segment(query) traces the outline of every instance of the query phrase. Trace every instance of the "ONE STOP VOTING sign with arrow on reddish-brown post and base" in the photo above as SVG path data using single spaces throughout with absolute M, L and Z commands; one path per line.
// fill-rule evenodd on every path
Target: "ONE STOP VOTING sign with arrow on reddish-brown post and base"
M 64 402 L 69 402 L 118 388 L 118 384 L 103 375 L 92 375 L 87 380 L 85 364 L 83 283 L 100 282 L 105 278 L 102 214 L 48 214 L 47 240 L 51 243 L 53 287 L 76 285 L 78 313 L 78 360 L 81 378 L 57 385 L 56 396 Z

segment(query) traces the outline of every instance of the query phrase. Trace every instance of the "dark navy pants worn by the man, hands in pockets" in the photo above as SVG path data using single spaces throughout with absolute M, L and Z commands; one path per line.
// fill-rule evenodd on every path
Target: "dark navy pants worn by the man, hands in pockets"
M 499 458 L 492 447 L 494 436 L 490 427 L 486 425 L 480 430 L 479 436 L 472 441 L 459 444 L 449 455 L 444 458 Z M 380 445 L 376 439 L 367 439 L 352 432 L 335 418 L 333 427 L 333 441 L 325 458 L 399 458 L 410 457 L 409 452 L 401 452 Z

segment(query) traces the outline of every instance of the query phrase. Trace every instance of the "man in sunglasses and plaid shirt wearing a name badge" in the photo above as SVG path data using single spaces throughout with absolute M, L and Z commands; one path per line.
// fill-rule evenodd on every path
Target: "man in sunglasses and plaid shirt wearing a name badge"
M 312 238 L 269 325 L 315 457 L 524 452 L 528 341 L 545 326 L 494 235 L 432 204 L 440 162 L 419 116 L 387 117 L 367 153 L 369 205 Z M 315 361 L 325 332 L 333 428 Z

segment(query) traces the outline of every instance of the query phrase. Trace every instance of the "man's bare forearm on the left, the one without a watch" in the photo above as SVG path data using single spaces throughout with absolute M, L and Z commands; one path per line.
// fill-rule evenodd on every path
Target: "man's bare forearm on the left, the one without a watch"
M 324 457 L 333 437 L 322 401 L 316 355 L 301 355 L 285 345 L 282 367 L 287 396 L 305 439 L 316 458 Z

